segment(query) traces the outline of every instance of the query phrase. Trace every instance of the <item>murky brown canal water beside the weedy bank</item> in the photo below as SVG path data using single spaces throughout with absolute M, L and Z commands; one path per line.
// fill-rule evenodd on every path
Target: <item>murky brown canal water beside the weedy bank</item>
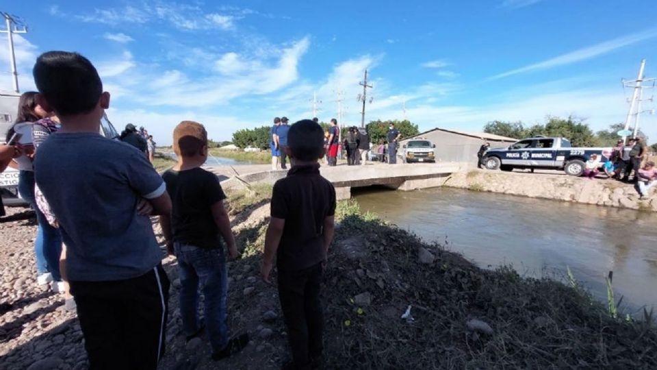
M 613 271 L 630 313 L 657 306 L 657 214 L 453 188 L 358 190 L 361 210 L 425 240 L 447 243 L 480 267 L 565 279 L 570 267 L 598 299 Z

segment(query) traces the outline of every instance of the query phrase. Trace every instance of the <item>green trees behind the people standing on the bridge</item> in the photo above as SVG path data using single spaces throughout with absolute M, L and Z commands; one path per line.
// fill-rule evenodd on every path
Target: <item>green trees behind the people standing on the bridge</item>
M 417 125 L 415 125 L 415 123 L 411 123 L 409 120 L 370 121 L 370 123 L 365 126 L 365 130 L 370 136 L 370 142 L 374 144 L 383 144 L 383 142 L 386 140 L 385 137 L 388 132 L 388 127 L 391 123 L 394 123 L 396 129 L 399 130 L 399 132 L 402 134 L 402 138 L 415 136 L 419 133 Z M 326 122 L 320 122 L 320 126 L 322 126 L 322 129 L 325 132 L 328 132 L 329 127 L 331 127 L 331 125 Z M 341 129 L 344 131 L 348 127 L 352 126 L 353 125 L 345 125 L 341 127 Z M 233 133 L 233 144 L 240 148 L 257 147 L 259 149 L 269 149 L 272 140 L 270 134 L 271 130 L 272 126 L 270 125 L 237 130 Z

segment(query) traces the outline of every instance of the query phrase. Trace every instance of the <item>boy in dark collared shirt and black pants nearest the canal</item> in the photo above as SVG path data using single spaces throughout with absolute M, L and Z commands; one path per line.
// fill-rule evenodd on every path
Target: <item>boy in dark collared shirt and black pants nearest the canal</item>
M 279 299 L 293 360 L 286 367 L 314 369 L 322 362 L 320 284 L 333 239 L 335 188 L 320 175 L 320 125 L 310 120 L 292 125 L 285 150 L 294 158 L 294 167 L 274 184 L 261 275 L 270 282 L 276 254 Z

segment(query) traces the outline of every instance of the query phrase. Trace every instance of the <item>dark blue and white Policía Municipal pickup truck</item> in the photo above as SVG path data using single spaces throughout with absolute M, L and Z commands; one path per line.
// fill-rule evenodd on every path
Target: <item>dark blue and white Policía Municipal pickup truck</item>
M 508 148 L 488 149 L 482 163 L 490 170 L 563 169 L 568 175 L 581 176 L 592 154 L 597 154 L 602 164 L 609 160 L 611 148 L 574 148 L 566 138 L 538 136 L 519 140 Z

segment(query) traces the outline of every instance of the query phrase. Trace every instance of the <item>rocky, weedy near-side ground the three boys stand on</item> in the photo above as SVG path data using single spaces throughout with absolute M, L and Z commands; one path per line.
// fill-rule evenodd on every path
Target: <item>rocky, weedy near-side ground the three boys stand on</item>
M 263 188 L 229 199 L 244 249 L 244 258 L 229 264 L 229 327 L 249 332 L 250 345 L 216 363 L 207 341 L 185 343 L 175 259 L 168 257 L 173 284 L 162 369 L 279 369 L 287 360 L 276 288 L 258 276 L 267 197 Z M 339 205 L 337 219 L 323 287 L 326 369 L 657 368 L 649 315 L 647 321 L 615 319 L 580 288 L 525 279 L 511 269 L 479 269 L 437 243 L 360 214 L 352 202 Z M 9 224 L 34 232 L 25 221 Z M 0 368 L 85 368 L 75 315 L 61 314 L 60 299 L 43 296 L 33 282 L 16 282 L 14 270 L 31 276 L 31 249 L 27 242 L 9 248 L 11 267 L 2 272 L 10 293 L 3 301 L 44 301 L 46 308 L 30 312 L 31 303 L 18 301 L 3 314 L 0 324 L 11 331 L 2 332 Z

